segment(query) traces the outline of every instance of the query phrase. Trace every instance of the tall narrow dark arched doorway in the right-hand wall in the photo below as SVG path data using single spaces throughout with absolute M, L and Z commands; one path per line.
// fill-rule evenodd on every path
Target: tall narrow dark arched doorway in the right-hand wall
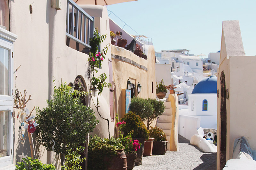
M 226 81 L 224 71 L 220 75 L 220 169 L 226 165 L 227 155 L 227 108 L 226 108 Z

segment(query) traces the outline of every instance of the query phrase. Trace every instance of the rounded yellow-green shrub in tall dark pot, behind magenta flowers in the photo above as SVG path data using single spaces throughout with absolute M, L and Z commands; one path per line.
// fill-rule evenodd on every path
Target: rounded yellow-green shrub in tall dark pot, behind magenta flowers
M 126 122 L 126 124 L 122 124 L 120 130 L 124 132 L 124 135 L 127 136 L 133 130 L 132 139 L 138 140 L 141 143 L 140 149 L 137 150 L 137 157 L 135 161 L 135 166 L 142 164 L 142 155 L 144 152 L 144 141 L 149 138 L 149 131 L 146 128 L 145 124 L 141 120 L 139 115 L 136 115 L 133 112 L 128 112 L 121 119 L 121 122 Z

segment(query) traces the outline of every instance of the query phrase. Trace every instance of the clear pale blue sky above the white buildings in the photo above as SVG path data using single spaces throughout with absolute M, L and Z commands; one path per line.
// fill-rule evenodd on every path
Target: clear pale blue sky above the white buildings
M 239 20 L 245 54 L 256 55 L 256 0 L 138 0 L 108 5 L 107 9 L 140 35 L 152 38 L 156 52 L 217 52 L 222 21 Z M 124 26 L 115 15 L 109 17 Z M 124 30 L 136 34 L 128 26 Z

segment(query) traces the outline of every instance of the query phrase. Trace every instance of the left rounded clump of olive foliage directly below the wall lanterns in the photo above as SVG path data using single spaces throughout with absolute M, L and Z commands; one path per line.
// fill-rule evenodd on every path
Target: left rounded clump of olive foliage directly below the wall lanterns
M 139 115 L 143 122 L 148 119 L 148 115 L 150 115 L 150 113 L 154 112 L 153 105 L 150 101 L 139 97 L 132 98 L 130 110 L 136 115 Z

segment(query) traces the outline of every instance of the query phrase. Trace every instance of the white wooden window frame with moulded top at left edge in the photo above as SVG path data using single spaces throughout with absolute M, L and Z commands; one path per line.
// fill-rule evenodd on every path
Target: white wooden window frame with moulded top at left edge
M 17 39 L 17 35 L 0 27 L 0 47 L 9 50 L 9 94 L 0 95 L 0 110 L 9 111 L 9 143 L 8 156 L 0 158 L 0 170 L 16 169 L 13 164 L 13 42 Z M 0 80 L 1 81 L 1 80 Z

